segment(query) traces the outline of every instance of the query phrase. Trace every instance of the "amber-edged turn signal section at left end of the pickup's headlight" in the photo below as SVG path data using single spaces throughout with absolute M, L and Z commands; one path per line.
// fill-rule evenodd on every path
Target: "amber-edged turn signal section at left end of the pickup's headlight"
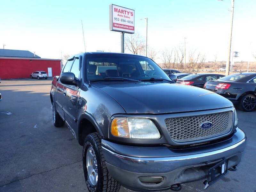
M 111 133 L 117 137 L 130 138 L 129 127 L 126 118 L 115 118 L 111 124 Z

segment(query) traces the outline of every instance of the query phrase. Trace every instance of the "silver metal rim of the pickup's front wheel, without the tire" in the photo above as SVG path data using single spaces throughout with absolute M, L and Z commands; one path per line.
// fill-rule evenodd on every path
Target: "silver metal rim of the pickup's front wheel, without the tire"
M 96 185 L 98 182 L 98 165 L 95 152 L 92 147 L 89 147 L 86 152 L 86 167 L 89 180 L 92 185 Z

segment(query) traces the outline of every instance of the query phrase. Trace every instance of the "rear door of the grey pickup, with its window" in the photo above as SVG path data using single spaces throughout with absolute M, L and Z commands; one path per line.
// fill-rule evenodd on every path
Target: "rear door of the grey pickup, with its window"
M 66 65 L 64 66 L 63 70 L 61 73 L 64 72 L 69 72 L 70 67 L 72 65 L 74 60 L 68 60 Z M 63 97 L 65 97 L 65 92 L 64 92 L 64 84 L 60 82 L 60 78 L 58 80 L 58 83 L 56 84 L 56 110 L 58 111 L 59 115 L 63 118 L 66 119 L 64 116 L 64 110 L 63 110 Z

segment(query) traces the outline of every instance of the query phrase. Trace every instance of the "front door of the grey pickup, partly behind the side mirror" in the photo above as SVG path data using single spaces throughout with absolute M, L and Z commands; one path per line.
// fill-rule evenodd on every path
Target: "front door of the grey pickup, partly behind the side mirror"
M 82 58 L 81 58 L 82 59 Z M 77 80 L 80 80 L 79 58 L 75 57 L 73 65 L 70 69 L 75 74 Z M 75 85 L 64 85 L 63 92 L 63 110 L 66 123 L 72 134 L 77 135 L 77 100 L 79 95 L 79 87 Z

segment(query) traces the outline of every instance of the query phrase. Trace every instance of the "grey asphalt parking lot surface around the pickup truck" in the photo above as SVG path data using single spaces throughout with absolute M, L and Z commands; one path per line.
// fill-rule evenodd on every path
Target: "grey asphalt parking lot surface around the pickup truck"
M 82 146 L 66 126 L 56 128 L 49 97 L 51 79 L 2 80 L 0 92 L 0 191 L 86 191 Z M 236 172 L 207 190 L 203 181 L 185 191 L 256 191 L 256 111 L 237 110 L 247 148 Z M 131 191 L 121 187 L 121 192 Z M 168 190 L 171 192 L 171 190 Z

